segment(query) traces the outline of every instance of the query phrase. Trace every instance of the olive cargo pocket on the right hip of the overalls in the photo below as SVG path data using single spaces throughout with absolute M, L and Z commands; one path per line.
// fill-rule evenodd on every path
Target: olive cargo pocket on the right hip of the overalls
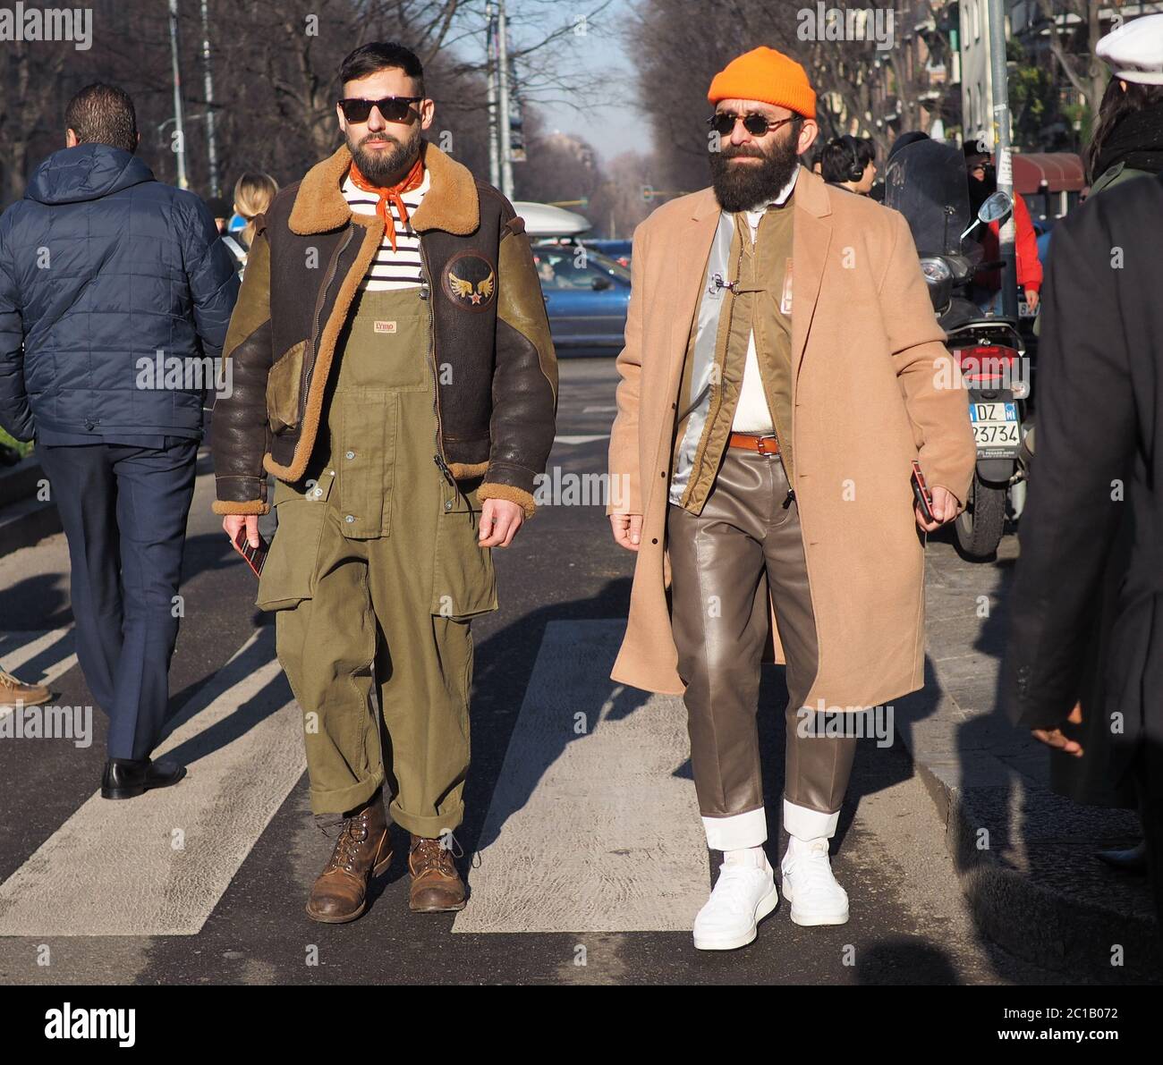
M 441 617 L 472 617 L 495 610 L 492 548 L 481 548 L 477 541 L 481 500 L 476 489 L 462 492 L 448 483 L 443 500 L 437 517 L 431 613 Z

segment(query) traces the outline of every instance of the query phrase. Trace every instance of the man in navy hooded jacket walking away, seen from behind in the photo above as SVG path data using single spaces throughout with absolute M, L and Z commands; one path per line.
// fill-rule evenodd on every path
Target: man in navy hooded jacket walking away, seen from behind
M 134 156 L 133 101 L 90 85 L 66 148 L 0 216 L 0 426 L 36 439 L 72 560 L 77 655 L 109 715 L 101 794 L 185 770 L 165 722 L 202 403 L 238 281 L 209 210 Z

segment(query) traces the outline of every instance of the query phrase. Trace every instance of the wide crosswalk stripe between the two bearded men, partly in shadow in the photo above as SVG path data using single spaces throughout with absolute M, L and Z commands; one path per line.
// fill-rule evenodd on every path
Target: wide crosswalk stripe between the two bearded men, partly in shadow
M 706 902 L 686 712 L 609 680 L 623 629 L 545 627 L 454 931 L 688 930 Z

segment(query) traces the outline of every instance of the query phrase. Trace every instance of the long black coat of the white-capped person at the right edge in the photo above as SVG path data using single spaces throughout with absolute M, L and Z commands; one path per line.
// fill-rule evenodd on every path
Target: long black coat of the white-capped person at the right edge
M 1055 227 L 999 695 L 1015 724 L 1076 758 L 1080 714 L 1100 715 L 1111 782 L 1139 796 L 1163 914 L 1161 242 L 1160 177 L 1110 188 Z M 1087 706 L 1089 692 L 1099 698 Z

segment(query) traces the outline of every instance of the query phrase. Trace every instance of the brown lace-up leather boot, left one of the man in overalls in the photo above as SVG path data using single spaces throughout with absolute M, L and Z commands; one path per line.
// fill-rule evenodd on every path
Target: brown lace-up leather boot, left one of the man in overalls
M 377 792 L 343 821 L 327 867 L 307 900 L 307 916 L 324 924 L 355 921 L 368 907 L 368 884 L 392 864 L 392 837 Z

